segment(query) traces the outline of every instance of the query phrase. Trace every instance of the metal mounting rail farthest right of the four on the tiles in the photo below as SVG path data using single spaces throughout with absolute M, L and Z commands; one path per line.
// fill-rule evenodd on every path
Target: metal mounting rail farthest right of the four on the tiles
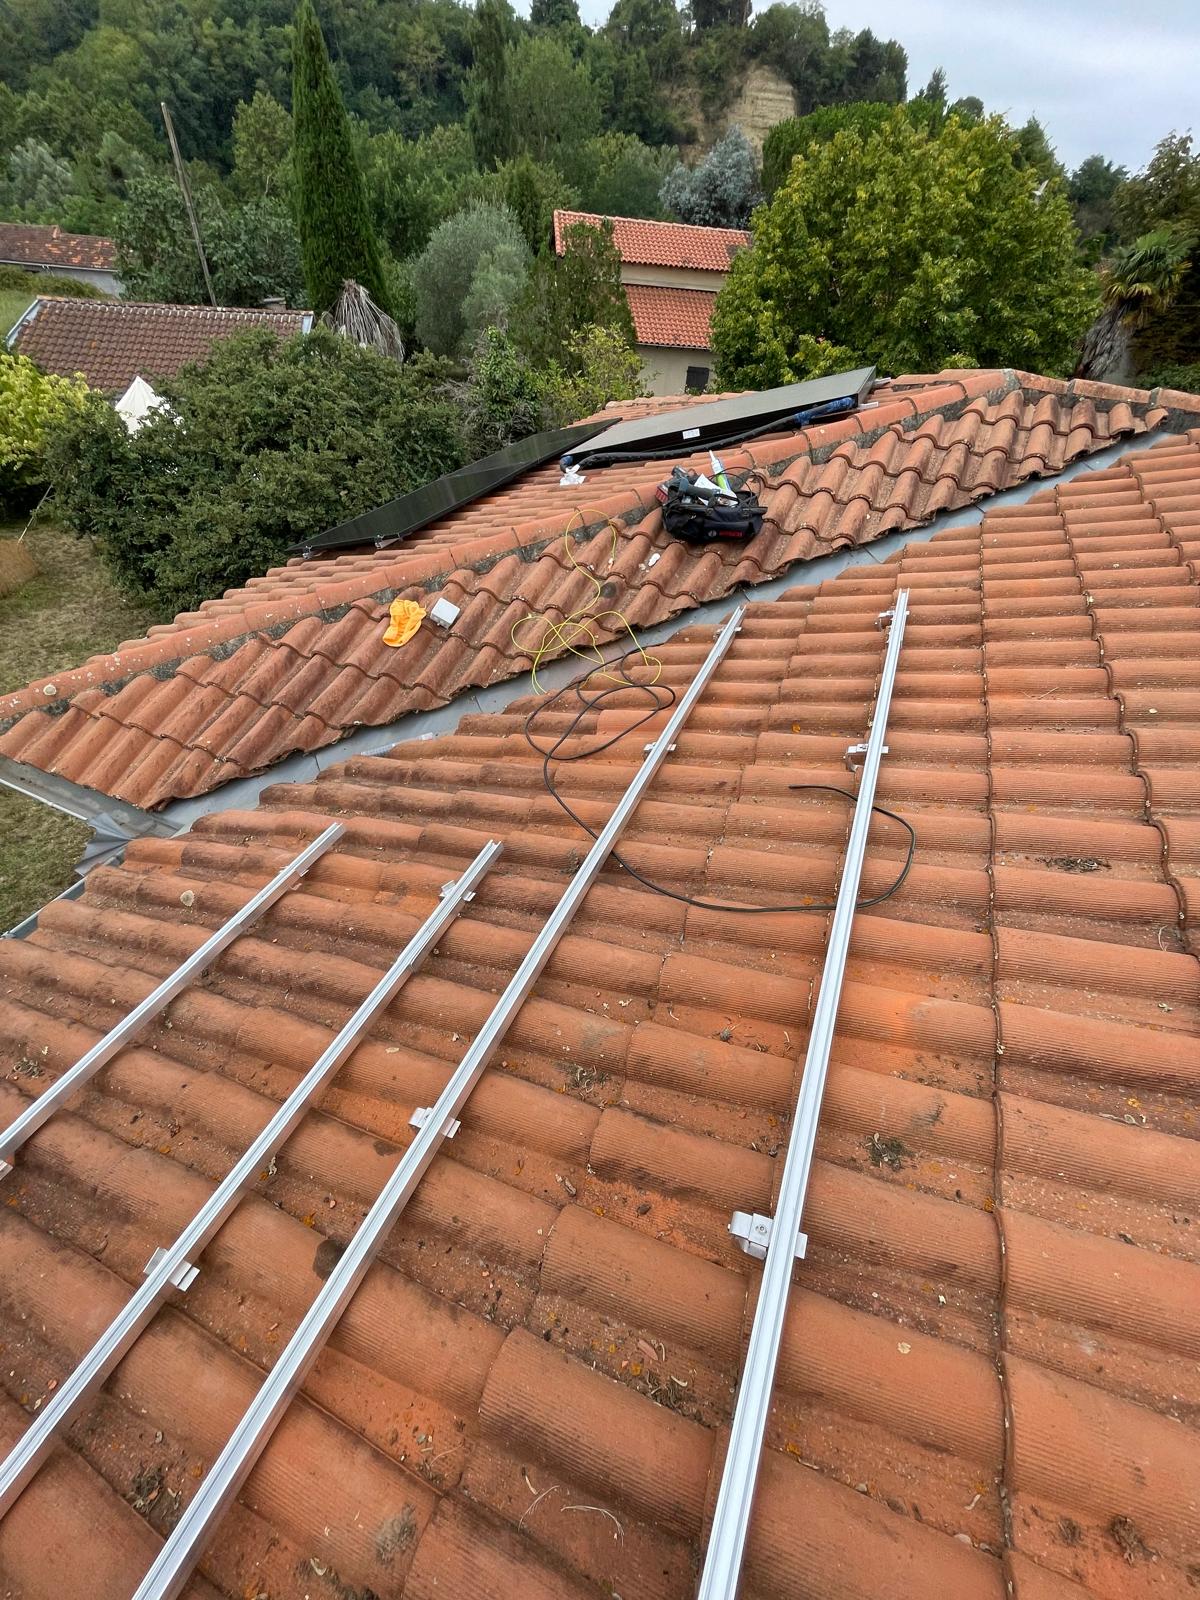
M 854 923 L 854 907 L 862 877 L 862 858 L 870 829 L 870 808 L 875 802 L 875 781 L 878 779 L 883 739 L 888 731 L 891 690 L 896 682 L 896 662 L 904 643 L 907 613 L 909 590 L 901 589 L 896 595 L 896 613 L 888 634 L 888 648 L 875 696 L 870 734 L 862 752 L 862 781 L 854 805 L 854 819 L 850 824 L 850 838 L 846 840 L 842 866 L 842 883 L 837 891 L 837 906 L 829 928 L 821 994 L 813 1011 L 813 1029 L 808 1037 L 808 1054 L 805 1056 L 805 1075 L 795 1104 L 792 1138 L 779 1181 L 774 1218 L 746 1218 L 742 1213 L 738 1213 L 730 1229 L 734 1232 L 734 1237 L 744 1237 L 747 1254 L 763 1256 L 765 1261 L 758 1286 L 758 1306 L 754 1314 L 746 1366 L 738 1392 L 738 1405 L 733 1413 L 730 1448 L 725 1454 L 725 1469 L 722 1472 L 720 1490 L 717 1491 L 709 1547 L 704 1555 L 699 1600 L 734 1600 L 738 1592 L 746 1534 L 754 1506 L 754 1490 L 758 1478 L 763 1432 L 766 1429 L 766 1416 L 771 1410 L 779 1341 L 784 1331 L 784 1318 L 787 1317 L 792 1262 L 797 1256 L 803 1256 L 808 1248 L 808 1240 L 800 1232 L 800 1221 L 805 1210 L 808 1178 L 813 1170 L 813 1149 L 821 1117 L 821 1099 L 826 1091 L 834 1026 L 842 1002 L 842 978 L 846 970 L 850 933 Z

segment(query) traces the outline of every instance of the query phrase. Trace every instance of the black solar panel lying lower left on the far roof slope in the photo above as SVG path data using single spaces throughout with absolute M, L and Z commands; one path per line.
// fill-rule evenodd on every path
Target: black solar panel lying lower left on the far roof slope
M 290 546 L 293 555 L 315 555 L 318 550 L 344 550 L 350 546 L 374 544 L 384 549 L 397 539 L 416 533 L 418 528 L 448 517 L 450 512 L 469 506 L 483 494 L 502 488 L 522 472 L 531 472 L 547 461 L 558 458 L 573 448 L 586 443 L 594 434 L 603 432 L 608 422 L 578 422 L 574 427 L 560 427 L 552 434 L 531 434 L 528 438 L 498 450 L 494 456 L 483 461 L 472 461 L 458 472 L 446 472 L 445 477 L 426 483 L 424 488 L 402 494 L 398 499 L 365 510 L 349 522 L 330 528 L 328 533 L 304 539 Z

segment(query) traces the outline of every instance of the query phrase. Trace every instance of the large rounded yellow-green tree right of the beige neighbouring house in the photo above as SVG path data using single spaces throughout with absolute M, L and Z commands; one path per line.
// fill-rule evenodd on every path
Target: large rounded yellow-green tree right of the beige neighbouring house
M 717 296 L 718 381 L 803 378 L 808 338 L 893 373 L 950 360 L 1062 371 L 1096 285 L 1066 195 L 1038 186 L 998 117 L 933 131 L 898 110 L 811 147 Z

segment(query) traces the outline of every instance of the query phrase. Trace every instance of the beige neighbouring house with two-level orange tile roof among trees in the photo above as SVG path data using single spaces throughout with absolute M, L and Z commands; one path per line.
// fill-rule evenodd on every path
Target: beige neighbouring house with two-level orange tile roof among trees
M 613 243 L 621 254 L 621 282 L 646 387 L 656 395 L 706 389 L 712 376 L 712 307 L 730 261 L 746 250 L 750 235 L 739 227 L 555 211 L 554 248 L 562 256 L 571 224 L 605 221 L 613 224 Z

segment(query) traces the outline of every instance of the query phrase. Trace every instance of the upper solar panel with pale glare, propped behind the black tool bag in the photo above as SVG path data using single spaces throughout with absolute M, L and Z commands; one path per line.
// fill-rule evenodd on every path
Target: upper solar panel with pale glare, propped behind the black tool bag
M 587 448 L 571 448 L 563 462 L 582 461 L 586 467 L 603 466 L 603 456 L 651 456 L 659 451 L 690 454 L 714 442 L 728 442 L 739 432 L 749 434 L 773 421 L 781 424 L 798 413 L 853 411 L 870 394 L 875 381 L 874 366 L 859 366 L 853 373 L 834 373 L 829 378 L 813 378 L 803 384 L 786 384 L 782 389 L 763 389 L 731 400 L 714 400 L 710 405 L 686 406 L 682 411 L 664 411 L 661 416 L 632 418 L 616 422 L 587 440 Z

